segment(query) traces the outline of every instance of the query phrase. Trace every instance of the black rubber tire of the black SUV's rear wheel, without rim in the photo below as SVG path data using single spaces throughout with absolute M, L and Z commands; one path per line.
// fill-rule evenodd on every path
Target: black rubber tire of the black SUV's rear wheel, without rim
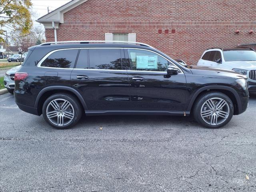
M 46 109 L 47 109 L 47 106 L 48 104 L 50 104 L 50 102 L 52 100 L 55 100 L 55 99 L 64 99 L 64 100 L 67 100 L 68 102 L 70 102 L 70 104 L 72 105 L 72 107 L 74 108 L 74 118 L 72 119 L 71 122 L 69 122 L 68 124 L 66 125 L 62 125 L 62 126 L 58 126 L 54 123 L 52 123 L 48 117 L 47 117 L 47 114 L 46 114 Z M 48 97 L 44 104 L 43 104 L 43 108 L 42 108 L 42 114 L 44 116 L 44 120 L 50 124 L 50 126 L 54 127 L 54 128 L 57 128 L 57 129 L 67 129 L 67 128 L 70 128 L 72 126 L 74 126 L 81 118 L 82 114 L 83 114 L 83 108 L 80 104 L 80 102 L 78 101 L 78 99 L 71 95 L 71 94 L 66 94 L 66 93 L 57 93 L 57 94 L 53 94 L 52 96 Z

